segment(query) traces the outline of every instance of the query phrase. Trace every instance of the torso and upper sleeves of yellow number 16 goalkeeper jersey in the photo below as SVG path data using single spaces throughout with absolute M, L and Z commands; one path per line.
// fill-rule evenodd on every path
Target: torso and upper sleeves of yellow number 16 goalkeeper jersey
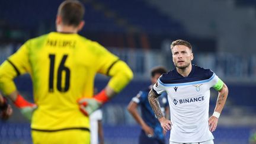
M 52 32 L 28 40 L 2 66 L 13 77 L 27 72 L 31 75 L 38 105 L 31 128 L 62 130 L 89 127 L 88 117 L 79 111 L 76 100 L 92 97 L 96 73 L 108 75 L 118 60 L 79 34 Z M 5 94 L 15 90 L 11 83 L 4 87 Z

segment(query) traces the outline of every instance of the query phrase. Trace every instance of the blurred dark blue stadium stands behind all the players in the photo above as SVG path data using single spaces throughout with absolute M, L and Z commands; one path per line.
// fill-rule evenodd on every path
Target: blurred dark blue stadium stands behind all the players
M 150 84 L 149 71 L 164 65 L 171 70 L 172 40 L 189 41 L 193 63 L 212 69 L 229 87 L 229 97 L 213 132 L 215 143 L 249 143 L 256 131 L 256 1 L 255 0 L 81 0 L 85 28 L 81 35 L 98 41 L 126 61 L 135 73 L 132 83 L 104 105 L 106 144 L 137 143 L 140 127 L 127 112 L 129 101 Z M 0 63 L 25 40 L 55 30 L 61 0 L 0 1 Z M 33 101 L 29 76 L 15 79 Z M 108 79 L 97 76 L 95 86 Z M 215 91 L 210 114 L 216 103 Z M 167 140 L 168 140 L 167 135 Z M 31 143 L 30 124 L 17 108 L 0 121 L 0 144 Z

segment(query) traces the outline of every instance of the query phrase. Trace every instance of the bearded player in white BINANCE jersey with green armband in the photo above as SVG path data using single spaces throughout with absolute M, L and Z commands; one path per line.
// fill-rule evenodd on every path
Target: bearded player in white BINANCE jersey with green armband
M 191 44 L 176 40 L 171 44 L 175 69 L 162 75 L 148 98 L 164 130 L 171 130 L 170 143 L 212 144 L 212 132 L 228 97 L 228 87 L 210 69 L 192 65 Z M 210 88 L 219 91 L 213 116 L 209 118 Z M 158 97 L 167 92 L 171 121 L 165 119 Z

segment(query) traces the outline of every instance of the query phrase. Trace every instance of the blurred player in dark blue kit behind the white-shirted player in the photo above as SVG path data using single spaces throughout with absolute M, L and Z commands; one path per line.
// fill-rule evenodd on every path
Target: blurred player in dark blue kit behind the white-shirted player
M 142 130 L 139 136 L 139 144 L 164 144 L 165 143 L 165 131 L 162 129 L 158 119 L 155 117 L 149 101 L 148 93 L 152 89 L 153 84 L 156 83 L 158 78 L 167 72 L 165 68 L 159 66 L 151 70 L 151 82 L 148 88 L 140 91 L 136 97 L 130 101 L 127 109 L 132 114 L 133 118 L 140 124 Z M 159 103 L 162 111 L 165 114 L 169 114 L 169 106 L 167 101 L 167 94 L 164 92 L 159 97 Z M 137 107 L 140 105 L 142 116 L 139 115 Z M 169 115 L 168 115 L 169 116 Z

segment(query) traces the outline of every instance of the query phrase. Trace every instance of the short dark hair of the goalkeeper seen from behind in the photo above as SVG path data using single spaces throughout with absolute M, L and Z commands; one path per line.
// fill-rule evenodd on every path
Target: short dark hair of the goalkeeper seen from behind
M 64 25 L 78 26 L 84 18 L 84 5 L 76 0 L 66 0 L 60 4 L 57 15 Z

